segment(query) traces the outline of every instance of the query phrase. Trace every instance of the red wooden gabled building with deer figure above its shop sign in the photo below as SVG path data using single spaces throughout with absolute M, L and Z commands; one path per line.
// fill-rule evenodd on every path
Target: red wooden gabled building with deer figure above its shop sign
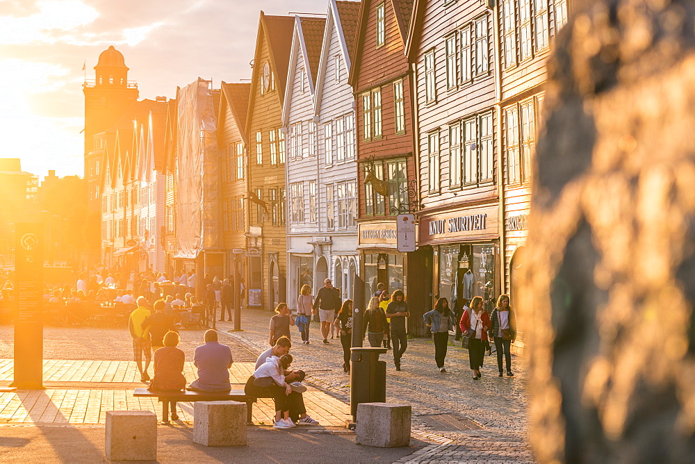
M 411 0 L 363 0 L 349 82 L 357 113 L 358 239 L 366 295 L 407 294 L 409 332 L 423 332 L 424 255 L 397 248 L 396 216 L 416 208 L 414 82 L 405 54 Z M 421 274 L 420 274 L 421 277 Z

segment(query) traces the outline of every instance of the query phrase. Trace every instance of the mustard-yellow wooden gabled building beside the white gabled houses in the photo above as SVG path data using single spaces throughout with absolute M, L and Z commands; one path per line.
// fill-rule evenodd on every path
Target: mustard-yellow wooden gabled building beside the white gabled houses
M 285 133 L 287 69 L 295 18 L 261 11 L 245 132 L 249 223 L 246 231 L 247 304 L 272 309 L 286 299 Z

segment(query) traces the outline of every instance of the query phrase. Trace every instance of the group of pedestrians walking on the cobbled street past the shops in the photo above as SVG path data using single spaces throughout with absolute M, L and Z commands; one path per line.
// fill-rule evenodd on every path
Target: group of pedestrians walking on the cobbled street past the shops
M 469 306 L 470 303 L 470 306 Z M 512 372 L 511 345 L 516 339 L 516 316 L 509 305 L 509 296 L 501 295 L 491 315 L 484 309 L 482 297 L 474 297 L 469 302 L 462 300 L 461 308 L 450 308 L 446 298 L 436 299 L 434 308 L 425 315 L 425 325 L 430 329 L 434 342 L 434 362 L 439 372 L 446 372 L 444 361 L 449 344 L 449 332 L 457 334 L 457 340 L 463 335 L 464 347 L 468 356 L 473 379 L 480 379 L 480 367 L 485 351 L 492 352 L 493 341 L 497 354 L 500 376 L 504 374 L 502 361 L 506 362 L 507 376 Z M 335 328 L 343 347 L 343 372 L 350 372 L 350 348 L 352 345 L 352 300 L 341 299 L 340 291 L 334 288 L 330 279 L 325 279 L 324 286 L 314 297 L 309 285 L 302 285 L 297 297 L 297 314 L 295 317 L 285 303 L 278 304 L 275 315 L 270 318 L 271 346 L 280 337 L 291 338 L 291 327 L 297 326 L 302 343 L 309 345 L 311 318 L 318 312 L 320 316 L 321 338 L 323 343 L 330 343 L 332 329 Z M 384 347 L 393 352 L 395 370 L 401 370 L 401 358 L 408 347 L 406 320 L 410 310 L 404 292 L 395 290 L 389 295 L 384 283 L 378 283 L 377 291 L 370 297 L 363 315 L 362 339 L 370 347 Z M 392 346 L 393 345 L 393 346 Z

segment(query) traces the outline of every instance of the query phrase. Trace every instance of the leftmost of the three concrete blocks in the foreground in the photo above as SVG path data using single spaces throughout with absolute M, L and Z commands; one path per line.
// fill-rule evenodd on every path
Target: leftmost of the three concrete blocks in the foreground
M 111 461 L 156 460 L 157 415 L 152 411 L 106 411 L 105 448 Z

